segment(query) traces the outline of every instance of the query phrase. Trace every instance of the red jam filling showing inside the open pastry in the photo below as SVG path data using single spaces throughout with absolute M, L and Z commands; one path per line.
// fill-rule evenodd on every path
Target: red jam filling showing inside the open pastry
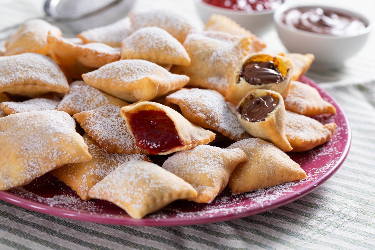
M 160 110 L 142 110 L 132 114 L 130 127 L 138 147 L 150 154 L 182 146 L 173 121 Z

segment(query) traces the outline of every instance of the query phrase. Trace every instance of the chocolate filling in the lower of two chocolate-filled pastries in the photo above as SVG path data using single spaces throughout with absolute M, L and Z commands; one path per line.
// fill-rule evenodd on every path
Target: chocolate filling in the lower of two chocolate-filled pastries
M 248 121 L 264 121 L 267 115 L 279 105 L 279 100 L 271 95 L 255 97 L 251 96 L 237 112 Z

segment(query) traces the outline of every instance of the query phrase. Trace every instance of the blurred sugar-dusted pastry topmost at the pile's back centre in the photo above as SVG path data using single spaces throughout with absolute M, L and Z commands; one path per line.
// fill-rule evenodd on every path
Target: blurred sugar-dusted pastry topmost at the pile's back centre
M 132 11 L 129 18 L 132 32 L 144 27 L 159 27 L 168 31 L 180 43 L 184 42 L 190 31 L 198 29 L 187 16 L 168 9 Z

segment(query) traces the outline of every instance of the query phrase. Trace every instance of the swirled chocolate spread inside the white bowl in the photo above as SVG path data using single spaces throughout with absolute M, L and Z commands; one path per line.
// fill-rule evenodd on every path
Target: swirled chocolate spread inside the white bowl
M 333 36 L 350 36 L 362 32 L 366 25 L 346 12 L 318 7 L 298 7 L 284 13 L 282 21 L 300 30 Z

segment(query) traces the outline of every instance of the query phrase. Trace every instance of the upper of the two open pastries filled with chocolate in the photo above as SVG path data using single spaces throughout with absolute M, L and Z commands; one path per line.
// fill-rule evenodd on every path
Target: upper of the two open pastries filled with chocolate
M 264 88 L 287 96 L 293 72 L 293 61 L 266 52 L 247 55 L 232 73 L 225 99 L 237 105 L 249 91 Z

